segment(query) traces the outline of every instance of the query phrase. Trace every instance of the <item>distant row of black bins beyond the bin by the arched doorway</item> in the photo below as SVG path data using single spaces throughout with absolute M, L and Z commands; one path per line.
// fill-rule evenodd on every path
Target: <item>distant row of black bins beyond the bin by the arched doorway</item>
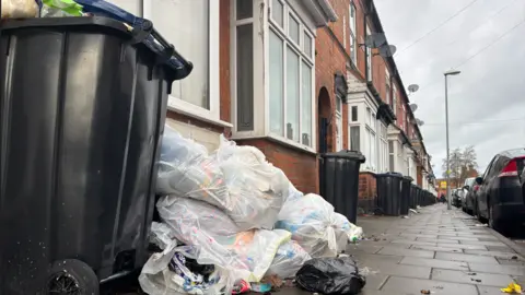
M 411 184 L 412 178 L 399 173 L 377 174 L 377 206 L 383 214 L 408 215 L 409 209 L 435 203 L 435 197 L 428 190 Z

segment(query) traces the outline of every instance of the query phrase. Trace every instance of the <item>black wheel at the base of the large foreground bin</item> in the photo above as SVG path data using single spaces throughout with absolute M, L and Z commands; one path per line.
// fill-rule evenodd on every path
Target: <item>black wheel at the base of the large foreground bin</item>
M 47 295 L 98 295 L 98 278 L 84 262 L 65 259 L 52 264 L 45 290 Z

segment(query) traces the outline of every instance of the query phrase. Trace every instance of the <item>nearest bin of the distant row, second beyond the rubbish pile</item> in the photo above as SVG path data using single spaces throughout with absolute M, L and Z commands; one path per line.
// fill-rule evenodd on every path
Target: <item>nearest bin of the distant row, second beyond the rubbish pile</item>
M 377 206 L 385 215 L 398 216 L 402 175 L 399 173 L 377 174 Z

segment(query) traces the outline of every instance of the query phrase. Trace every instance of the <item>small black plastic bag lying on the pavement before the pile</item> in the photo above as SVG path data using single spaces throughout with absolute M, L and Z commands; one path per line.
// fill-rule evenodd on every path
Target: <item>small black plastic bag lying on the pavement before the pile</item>
M 325 295 L 359 294 L 366 283 L 355 261 L 350 257 L 314 258 L 295 276 L 298 285 Z

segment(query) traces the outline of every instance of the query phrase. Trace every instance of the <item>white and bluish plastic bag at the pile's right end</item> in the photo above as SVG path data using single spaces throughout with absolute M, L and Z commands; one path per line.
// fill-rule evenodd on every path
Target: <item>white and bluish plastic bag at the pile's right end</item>
M 320 196 L 308 193 L 287 200 L 276 228 L 292 233 L 292 239 L 313 258 L 336 257 L 345 250 L 348 235 L 337 226 L 334 213 L 330 203 Z

